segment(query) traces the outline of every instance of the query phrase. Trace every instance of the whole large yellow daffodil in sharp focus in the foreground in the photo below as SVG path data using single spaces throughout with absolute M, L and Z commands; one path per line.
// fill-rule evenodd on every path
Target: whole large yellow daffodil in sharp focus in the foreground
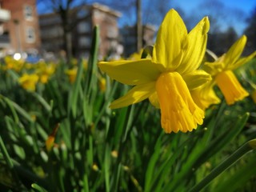
M 198 70 L 206 51 L 208 18 L 203 18 L 187 33 L 182 18 L 170 10 L 158 30 L 152 58 L 137 61 L 99 62 L 98 66 L 118 82 L 134 86 L 112 109 L 129 106 L 150 98 L 161 110 L 166 133 L 196 129 L 204 112 L 193 101 L 190 90 L 210 81 L 210 75 Z

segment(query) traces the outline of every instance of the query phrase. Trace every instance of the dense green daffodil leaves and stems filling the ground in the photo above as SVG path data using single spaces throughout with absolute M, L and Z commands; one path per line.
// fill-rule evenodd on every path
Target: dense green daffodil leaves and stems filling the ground
M 68 82 L 64 62 L 35 92 L 18 85 L 20 72 L 0 71 L 2 190 L 255 190 L 255 151 L 247 145 L 256 137 L 251 98 L 210 107 L 204 124 L 191 133 L 164 134 L 159 110 L 148 101 L 110 110 L 110 102 L 128 87 L 98 71 L 97 55 L 98 27 L 88 67 L 78 62 L 74 83 Z M 252 90 L 250 70 L 255 73 L 255 65 L 238 75 Z M 106 90 L 98 86 L 101 78 Z M 50 135 L 54 145 L 48 151 Z M 246 150 L 240 153 L 244 143 Z

